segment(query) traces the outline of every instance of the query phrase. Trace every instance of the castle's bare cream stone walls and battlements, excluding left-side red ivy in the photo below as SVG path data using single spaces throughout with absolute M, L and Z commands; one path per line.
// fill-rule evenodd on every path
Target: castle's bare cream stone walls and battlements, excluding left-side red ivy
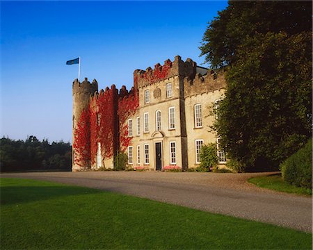
M 158 63 L 154 69 L 136 69 L 131 91 L 138 91 L 139 106 L 127 119 L 132 137 L 125 152 L 129 165 L 152 170 L 168 165 L 197 167 L 202 144 L 216 142 L 209 129 L 214 116 L 209 114 L 214 103 L 223 99 L 225 86 L 223 72 L 198 67 L 190 58 L 184 62 L 180 56 L 173 62 L 166 60 L 163 66 Z M 88 105 L 87 97 L 95 92 L 97 95 L 96 81 L 74 82 L 73 133 L 79 113 Z M 123 87 L 119 95 L 126 94 Z M 222 151 L 220 156 L 225 161 Z M 113 167 L 113 159 L 102 162 Z M 73 164 L 74 171 L 79 168 Z

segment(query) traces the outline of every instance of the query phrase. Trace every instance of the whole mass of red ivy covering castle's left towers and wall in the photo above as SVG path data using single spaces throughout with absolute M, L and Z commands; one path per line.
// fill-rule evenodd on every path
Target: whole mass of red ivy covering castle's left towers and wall
M 94 165 L 97 156 L 98 142 L 101 144 L 102 158 L 111 158 L 114 145 L 120 139 L 120 150 L 125 151 L 131 142 L 128 136 L 126 120 L 136 113 L 139 106 L 138 93 L 129 94 L 114 103 L 114 90 L 107 89 L 97 97 L 90 99 L 90 106 L 83 110 L 74 131 L 75 163 L 82 166 L 90 160 Z M 117 98 L 117 96 L 116 96 Z M 118 120 L 119 119 L 119 120 Z M 118 135 L 119 128 L 119 135 Z M 115 133 L 116 131 L 116 133 Z

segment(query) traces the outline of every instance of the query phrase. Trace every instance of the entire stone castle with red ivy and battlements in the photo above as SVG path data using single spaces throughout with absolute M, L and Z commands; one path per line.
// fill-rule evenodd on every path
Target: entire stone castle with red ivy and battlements
M 128 92 L 98 92 L 97 81 L 73 83 L 73 171 L 113 168 L 114 158 L 125 151 L 128 165 L 161 170 L 200 164 L 202 145 L 217 144 L 219 163 L 225 153 L 216 134 L 209 131 L 210 110 L 223 99 L 223 72 L 199 67 L 176 56 L 154 69 L 134 71 Z

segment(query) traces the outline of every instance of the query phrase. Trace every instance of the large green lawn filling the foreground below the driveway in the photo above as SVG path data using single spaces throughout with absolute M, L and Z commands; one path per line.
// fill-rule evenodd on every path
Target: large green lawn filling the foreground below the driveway
M 1 249 L 312 249 L 312 234 L 90 188 L 1 178 Z

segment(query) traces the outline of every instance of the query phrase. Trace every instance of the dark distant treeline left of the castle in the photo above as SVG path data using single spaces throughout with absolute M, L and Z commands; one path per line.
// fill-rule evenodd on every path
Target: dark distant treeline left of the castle
M 70 142 L 38 140 L 29 136 L 24 140 L 0 139 L 1 172 L 27 170 L 70 171 L 72 166 L 72 146 Z

